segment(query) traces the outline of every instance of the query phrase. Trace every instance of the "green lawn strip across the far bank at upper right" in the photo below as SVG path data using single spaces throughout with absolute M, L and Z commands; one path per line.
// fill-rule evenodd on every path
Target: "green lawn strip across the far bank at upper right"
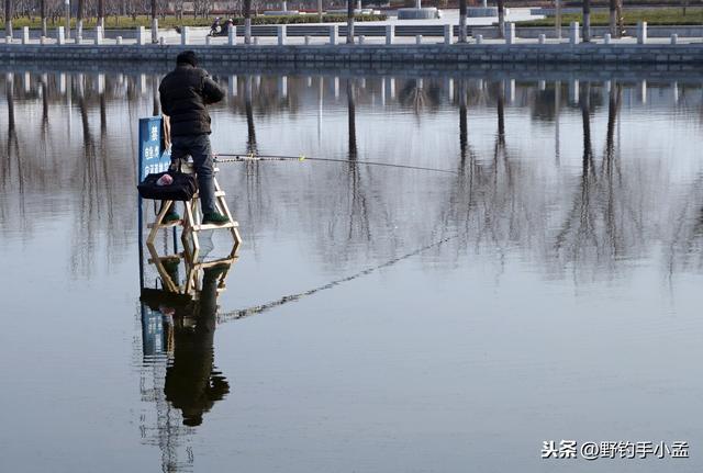
M 661 9 L 645 9 L 645 10 L 627 10 L 624 11 L 625 24 L 635 25 L 637 22 L 646 21 L 649 26 L 654 25 L 687 25 L 703 24 L 703 9 L 689 8 L 687 14 L 683 14 L 681 8 L 661 8 Z M 582 23 L 581 13 L 569 13 L 561 15 L 561 24 L 568 26 L 571 22 L 578 21 Z M 518 26 L 554 26 L 555 19 L 549 16 L 545 20 L 534 21 L 521 21 L 516 24 Z M 607 11 L 599 10 L 591 12 L 591 25 L 592 26 L 607 26 L 610 22 L 610 13 Z

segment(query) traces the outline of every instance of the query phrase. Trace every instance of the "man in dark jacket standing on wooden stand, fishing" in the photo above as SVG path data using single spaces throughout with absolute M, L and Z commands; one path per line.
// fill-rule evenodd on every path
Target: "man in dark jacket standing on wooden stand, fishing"
M 198 67 L 192 50 L 180 53 L 176 69 L 170 71 L 158 88 L 161 110 L 170 117 L 171 166 L 191 156 L 198 176 L 202 223 L 222 225 L 230 219 L 215 207 L 213 156 L 210 146 L 210 114 L 207 105 L 224 98 L 221 88 L 204 69 Z M 164 222 L 180 219 L 174 206 Z

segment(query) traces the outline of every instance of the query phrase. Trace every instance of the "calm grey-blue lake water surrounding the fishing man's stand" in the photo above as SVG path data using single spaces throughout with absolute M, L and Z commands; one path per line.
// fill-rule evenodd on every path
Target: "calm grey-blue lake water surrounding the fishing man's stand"
M 149 307 L 168 68 L 74 69 L 0 76 L 0 470 L 703 468 L 695 75 L 214 68 L 216 150 L 352 162 L 222 164 L 238 260 Z M 561 439 L 691 458 L 542 460 Z

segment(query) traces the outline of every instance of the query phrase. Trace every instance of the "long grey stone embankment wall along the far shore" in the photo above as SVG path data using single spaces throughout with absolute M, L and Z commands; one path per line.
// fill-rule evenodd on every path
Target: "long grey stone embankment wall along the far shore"
M 555 44 L 426 44 L 317 46 L 159 46 L 159 45 L 0 45 L 2 60 L 115 61 L 174 60 L 193 49 L 209 63 L 320 64 L 703 64 L 703 45 L 555 45 Z

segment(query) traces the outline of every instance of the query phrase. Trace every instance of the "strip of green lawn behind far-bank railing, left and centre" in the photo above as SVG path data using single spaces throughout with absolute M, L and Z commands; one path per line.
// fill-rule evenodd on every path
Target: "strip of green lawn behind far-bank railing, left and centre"
M 356 21 L 378 21 L 384 20 L 384 15 L 362 15 L 357 16 Z M 244 24 L 244 18 L 234 18 L 234 23 L 237 25 Z M 214 18 L 192 18 L 192 16 L 183 16 L 182 19 L 177 19 L 176 16 L 167 16 L 165 19 L 159 18 L 158 24 L 159 27 L 175 27 L 175 26 L 210 26 Z M 317 15 L 295 15 L 295 16 L 252 16 L 252 24 L 292 24 L 292 23 L 317 23 Z M 323 22 L 345 22 L 345 15 L 323 15 Z M 56 22 L 48 21 L 48 27 L 55 29 L 57 26 L 64 26 L 66 23 L 65 19 L 57 19 Z M 97 20 L 94 18 L 83 20 L 85 29 L 96 27 Z M 150 16 L 137 16 L 136 19 L 132 19 L 132 16 L 107 16 L 105 18 L 105 29 L 115 30 L 115 29 L 132 29 L 136 26 L 146 26 L 150 27 L 152 20 Z M 40 29 L 42 23 L 38 18 L 29 19 L 29 18 L 19 18 L 12 21 L 12 26 L 14 29 L 20 29 L 23 26 L 30 26 L 31 29 Z M 76 19 L 71 19 L 71 27 L 76 26 Z

